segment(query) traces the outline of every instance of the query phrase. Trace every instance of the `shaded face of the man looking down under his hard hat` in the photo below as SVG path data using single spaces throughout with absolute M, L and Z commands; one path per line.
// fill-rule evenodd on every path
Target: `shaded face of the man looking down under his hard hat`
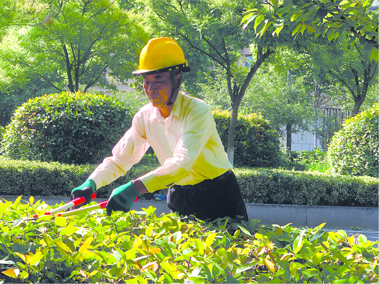
M 170 72 L 143 76 L 143 89 L 154 107 L 165 107 L 172 92 Z

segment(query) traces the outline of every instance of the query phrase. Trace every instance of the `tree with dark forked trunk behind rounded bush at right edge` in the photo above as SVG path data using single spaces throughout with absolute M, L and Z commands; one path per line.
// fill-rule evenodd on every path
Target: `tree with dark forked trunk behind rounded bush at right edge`
M 301 60 L 301 69 L 311 69 L 308 73 L 320 84 L 340 84 L 354 101 L 353 114 L 360 111 L 369 90 L 377 83 L 378 62 L 368 59 L 363 52 L 363 45 L 348 45 L 346 37 L 339 37 L 329 44 L 313 44 L 299 47 L 305 55 Z M 377 91 L 376 91 L 377 92 Z M 329 92 L 335 99 L 334 88 Z M 343 96 L 346 99 L 346 95 Z M 350 99 L 351 100 L 351 99 Z M 341 99 L 340 99 L 341 101 Z M 341 103 L 345 105 L 345 101 Z

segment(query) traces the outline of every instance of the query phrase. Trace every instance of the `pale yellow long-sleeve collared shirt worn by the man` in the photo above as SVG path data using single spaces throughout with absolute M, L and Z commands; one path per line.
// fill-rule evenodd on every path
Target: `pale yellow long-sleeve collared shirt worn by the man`
M 132 127 L 89 176 L 100 188 L 138 163 L 151 146 L 161 167 L 139 178 L 149 192 L 172 184 L 193 185 L 232 169 L 207 104 L 179 93 L 164 119 L 151 103 L 138 111 Z

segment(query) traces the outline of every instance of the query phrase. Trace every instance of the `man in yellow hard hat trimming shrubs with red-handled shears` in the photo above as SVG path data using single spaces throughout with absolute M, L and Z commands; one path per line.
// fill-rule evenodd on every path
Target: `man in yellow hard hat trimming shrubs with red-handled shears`
M 172 212 L 211 220 L 241 215 L 248 220 L 210 109 L 204 101 L 179 92 L 182 72 L 189 70 L 177 42 L 168 37 L 150 39 L 133 72 L 143 77 L 150 103 L 135 114 L 113 156 L 72 190 L 71 199 L 84 196 L 89 203 L 94 190 L 125 175 L 151 146 L 161 167 L 114 189 L 106 206 L 108 216 L 112 211 L 129 211 L 142 193 L 170 187 L 167 205 Z

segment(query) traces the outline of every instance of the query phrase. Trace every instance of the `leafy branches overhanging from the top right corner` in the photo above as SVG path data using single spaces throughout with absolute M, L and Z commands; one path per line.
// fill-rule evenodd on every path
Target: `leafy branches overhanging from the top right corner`
M 327 36 L 329 41 L 335 40 L 342 34 L 348 34 L 349 44 L 363 45 L 363 53 L 367 53 L 370 60 L 378 61 L 378 10 L 371 12 L 374 1 L 347 1 L 347 0 L 313 0 L 281 2 L 267 1 L 269 12 L 251 9 L 242 22 L 244 28 L 254 21 L 257 36 L 262 36 L 270 25 L 273 34 L 279 34 L 284 26 L 294 28 L 292 35 L 303 34 L 304 31 Z M 294 7 L 289 13 L 278 13 L 280 8 Z M 295 27 L 296 26 L 296 27 Z

